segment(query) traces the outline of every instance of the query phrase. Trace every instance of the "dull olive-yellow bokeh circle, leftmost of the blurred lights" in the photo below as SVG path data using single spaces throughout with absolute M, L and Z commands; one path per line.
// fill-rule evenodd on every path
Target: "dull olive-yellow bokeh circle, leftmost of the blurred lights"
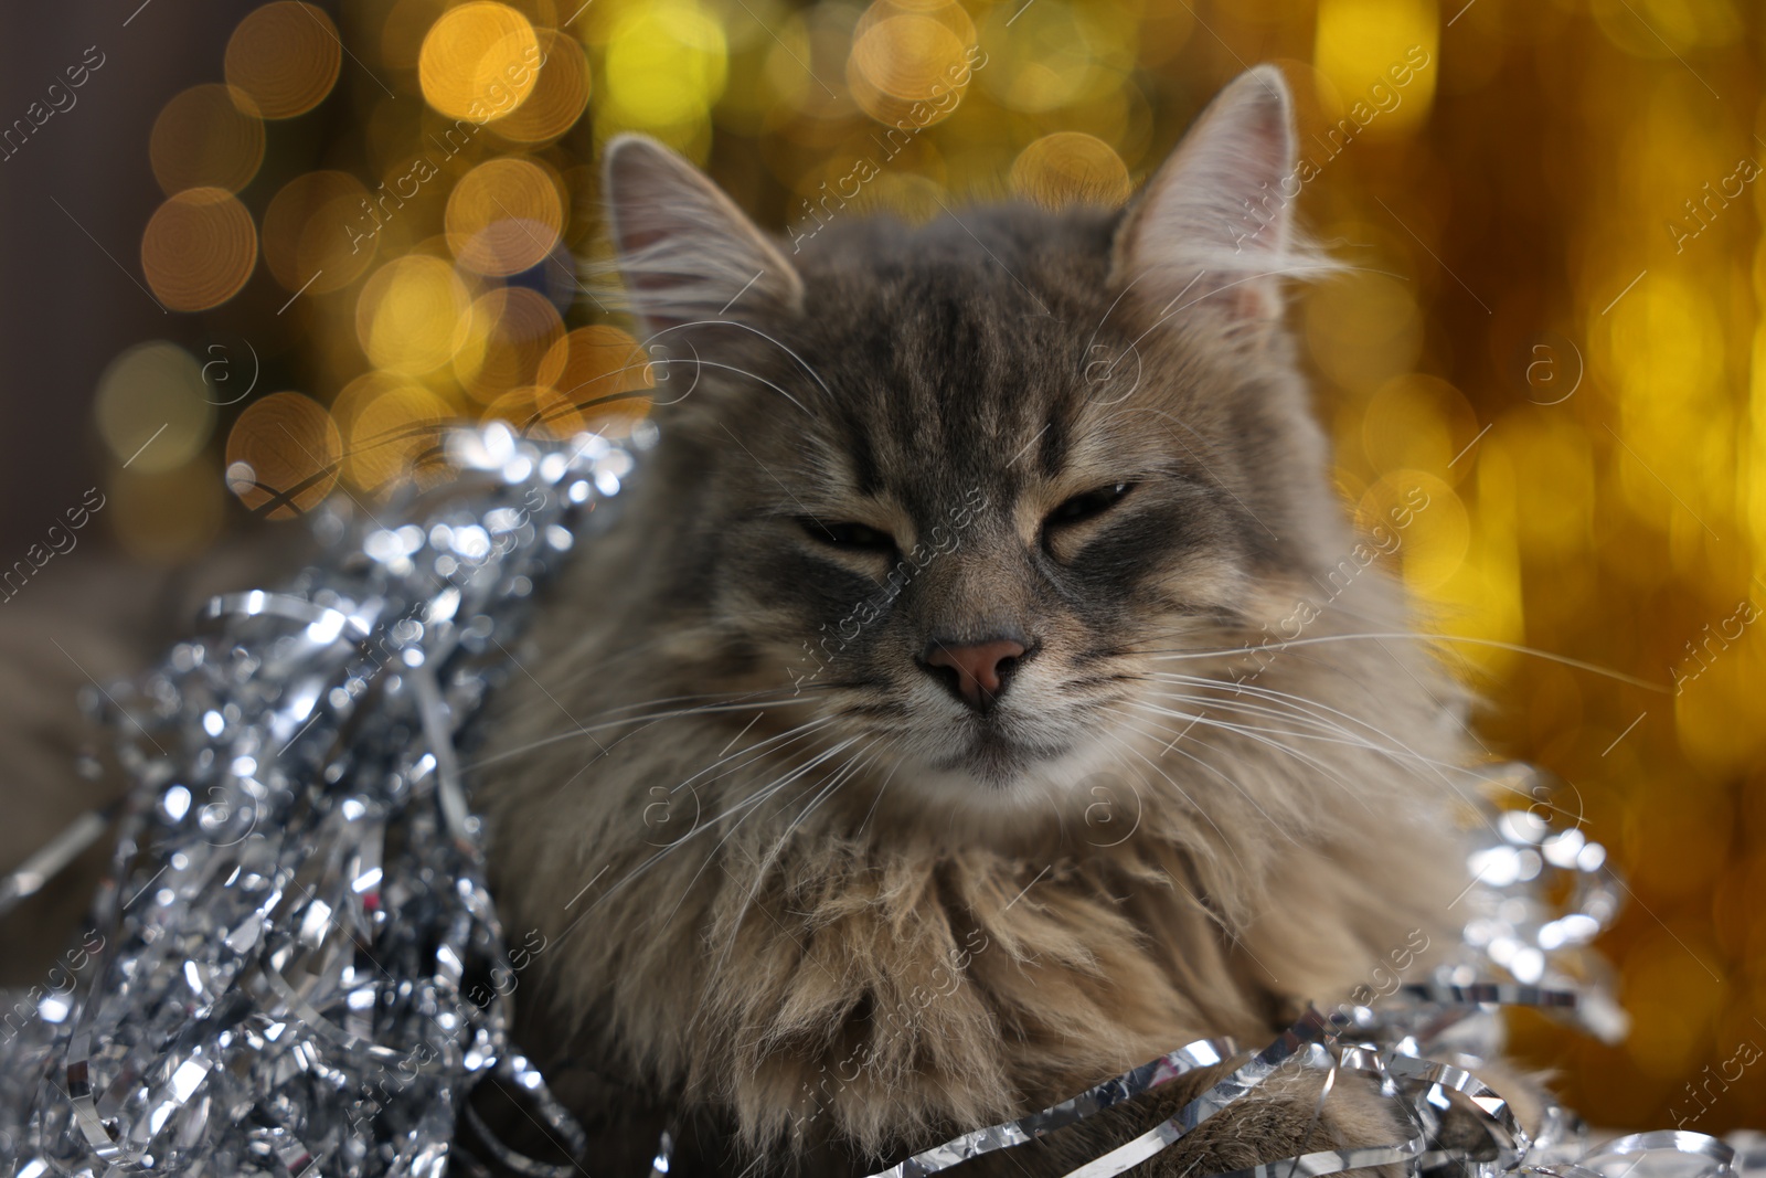
M 109 362 L 99 378 L 94 415 L 117 463 L 140 473 L 191 461 L 215 424 L 201 366 L 162 339 L 136 344 Z

